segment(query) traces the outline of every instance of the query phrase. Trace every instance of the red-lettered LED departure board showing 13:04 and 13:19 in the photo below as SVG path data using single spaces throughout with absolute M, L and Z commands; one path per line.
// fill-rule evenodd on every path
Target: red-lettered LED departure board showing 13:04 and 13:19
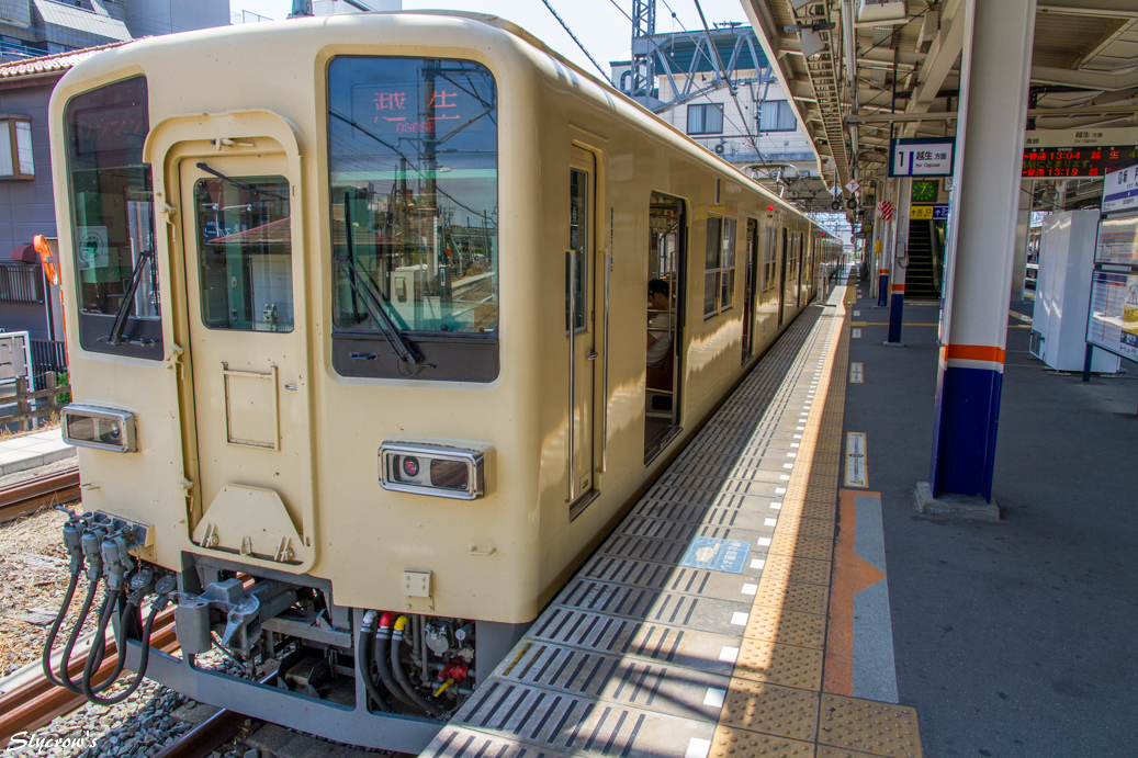
M 1024 179 L 1105 176 L 1138 163 L 1138 129 L 1031 130 L 1023 141 Z

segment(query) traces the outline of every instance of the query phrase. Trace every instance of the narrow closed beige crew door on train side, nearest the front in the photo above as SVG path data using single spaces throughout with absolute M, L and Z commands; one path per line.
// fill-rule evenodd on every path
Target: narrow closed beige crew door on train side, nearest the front
M 572 148 L 569 167 L 569 247 L 566 250 L 566 335 L 569 351 L 569 503 L 593 491 L 593 407 L 596 341 L 593 262 L 596 157 Z

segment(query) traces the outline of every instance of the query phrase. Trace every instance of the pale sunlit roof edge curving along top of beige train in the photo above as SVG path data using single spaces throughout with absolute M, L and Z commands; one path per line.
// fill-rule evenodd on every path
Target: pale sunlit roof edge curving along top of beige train
M 498 16 L 493 16 L 489 14 L 477 14 L 467 11 L 455 11 L 455 10 L 399 10 L 399 11 L 372 11 L 362 14 L 341 14 L 335 16 L 319 16 L 308 18 L 291 18 L 280 22 L 263 22 L 259 24 L 249 24 L 231 27 L 220 27 L 220 28 L 208 28 L 208 30 L 197 30 L 192 32 L 182 32 L 178 34 L 167 34 L 162 36 L 146 38 L 142 40 L 137 40 L 116 47 L 114 49 L 108 49 L 106 51 L 99 52 L 91 56 L 84 60 L 77 63 L 61 80 L 61 84 L 74 83 L 76 79 L 86 77 L 101 77 L 114 69 L 123 69 L 125 67 L 133 67 L 138 73 L 139 71 L 138 59 L 135 56 L 142 53 L 143 57 L 149 57 L 146 53 L 152 53 L 154 51 L 167 48 L 171 46 L 187 46 L 192 48 L 197 56 L 203 53 L 201 46 L 208 41 L 224 40 L 225 44 L 233 44 L 236 40 L 234 36 L 247 36 L 247 38 L 264 38 L 265 34 L 273 34 L 274 32 L 295 32 L 297 30 L 311 28 L 316 30 L 328 30 L 336 27 L 355 26 L 361 23 L 366 24 L 372 19 L 398 17 L 401 20 L 412 20 L 414 17 L 424 17 L 424 19 L 459 19 L 463 22 L 475 23 L 483 25 L 485 27 L 490 27 L 504 32 L 517 40 L 520 40 L 526 46 L 534 48 L 539 51 L 551 60 L 553 60 L 558 66 L 562 66 L 571 69 L 576 75 L 583 77 L 585 81 L 594 86 L 600 88 L 603 93 L 603 99 L 607 99 L 610 104 L 618 107 L 620 110 L 620 116 L 638 122 L 641 126 L 645 127 L 648 131 L 655 132 L 659 137 L 669 140 L 675 147 L 684 149 L 690 153 L 696 159 L 703 160 L 709 165 L 714 165 L 718 171 L 729 174 L 734 181 L 748 187 L 754 192 L 764 196 L 772 205 L 782 208 L 783 211 L 790 212 L 813 225 L 818 225 L 809 216 L 807 216 L 802 211 L 790 205 L 777 195 L 768 190 L 767 188 L 759 184 L 757 181 L 744 174 L 736 166 L 724 160 L 712 151 L 704 148 L 702 145 L 690 139 L 681 130 L 669 124 L 668 122 L 660 118 L 658 115 L 648 110 L 638 102 L 620 92 L 612 86 L 611 82 L 599 77 L 597 75 L 585 71 L 574 61 L 569 60 L 561 53 L 551 49 L 544 42 L 535 38 L 533 34 L 521 28 L 517 24 L 509 22 Z M 426 23 L 426 22 L 424 22 Z M 192 57 L 190 58 L 192 59 Z M 60 88 L 66 89 L 66 86 Z M 820 226 L 819 226 L 820 229 Z

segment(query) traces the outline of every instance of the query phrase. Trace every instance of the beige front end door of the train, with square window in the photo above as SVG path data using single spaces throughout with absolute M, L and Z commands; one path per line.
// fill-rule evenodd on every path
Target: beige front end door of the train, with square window
M 269 140 L 265 140 L 269 143 Z M 196 436 L 193 539 L 277 563 L 305 557 L 313 497 L 303 239 L 283 154 L 179 166 Z M 294 203 L 297 207 L 292 207 Z M 299 222 L 297 222 L 299 223 Z

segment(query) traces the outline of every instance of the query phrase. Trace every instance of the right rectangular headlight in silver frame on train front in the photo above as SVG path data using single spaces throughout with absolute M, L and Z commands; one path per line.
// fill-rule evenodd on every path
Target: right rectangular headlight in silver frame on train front
M 483 453 L 434 443 L 385 442 L 379 448 L 384 489 L 476 500 L 485 494 Z

